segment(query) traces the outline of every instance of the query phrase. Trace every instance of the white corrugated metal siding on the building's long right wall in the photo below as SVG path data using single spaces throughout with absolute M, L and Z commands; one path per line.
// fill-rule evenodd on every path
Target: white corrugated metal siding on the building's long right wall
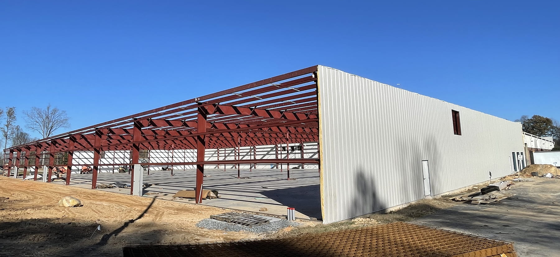
M 325 223 L 423 198 L 422 160 L 438 195 L 511 173 L 524 149 L 518 123 L 325 66 L 319 99 Z

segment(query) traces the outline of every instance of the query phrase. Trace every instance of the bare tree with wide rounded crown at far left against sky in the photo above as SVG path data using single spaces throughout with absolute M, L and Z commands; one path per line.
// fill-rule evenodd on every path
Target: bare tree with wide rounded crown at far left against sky
M 66 111 L 52 107 L 50 104 L 45 109 L 31 107 L 31 110 L 24 111 L 24 114 L 27 122 L 25 127 L 39 132 L 43 138 L 50 137 L 59 128 L 70 127 Z

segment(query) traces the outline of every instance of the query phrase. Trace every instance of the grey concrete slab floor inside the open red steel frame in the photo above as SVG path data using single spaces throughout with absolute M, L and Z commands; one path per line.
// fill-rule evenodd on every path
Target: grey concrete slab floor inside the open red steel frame
M 173 198 L 179 190 L 194 190 L 196 172 L 194 169 L 184 171 L 144 171 L 144 183 L 155 184 L 144 188 L 144 196 L 164 200 L 194 203 L 194 200 Z M 296 208 L 296 218 L 321 220 L 320 181 L 318 169 L 290 169 L 287 180 L 286 169 L 241 169 L 237 178 L 237 169 L 206 169 L 204 171 L 204 189 L 218 190 L 219 198 L 203 200 L 202 204 L 262 212 L 263 214 L 286 215 L 286 208 Z M 72 174 L 71 186 L 91 188 L 92 174 Z M 102 172 L 97 175 L 97 185 L 114 182 L 130 183 L 130 174 Z M 64 182 L 53 182 L 64 184 Z M 128 188 L 97 189 L 115 193 L 129 194 Z M 157 193 L 157 194 L 154 194 Z M 259 211 L 260 208 L 268 211 Z

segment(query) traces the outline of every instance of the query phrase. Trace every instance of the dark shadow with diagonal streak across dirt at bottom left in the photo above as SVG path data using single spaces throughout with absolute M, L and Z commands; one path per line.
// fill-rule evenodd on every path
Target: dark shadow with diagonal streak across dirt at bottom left
M 151 222 L 136 225 L 134 233 L 123 233 L 142 219 L 154 201 L 136 219 L 114 229 L 102 225 L 101 231 L 96 231 L 99 224 L 95 221 L 4 219 L 0 222 L 0 256 L 120 256 L 124 243 L 160 241 L 158 235 L 164 231 L 154 230 L 156 225 Z

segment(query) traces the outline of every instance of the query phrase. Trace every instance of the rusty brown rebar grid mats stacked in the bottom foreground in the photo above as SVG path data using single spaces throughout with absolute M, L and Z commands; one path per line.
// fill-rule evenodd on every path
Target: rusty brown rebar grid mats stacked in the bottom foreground
M 127 244 L 124 256 L 516 256 L 513 245 L 397 222 L 343 231 L 196 244 Z

